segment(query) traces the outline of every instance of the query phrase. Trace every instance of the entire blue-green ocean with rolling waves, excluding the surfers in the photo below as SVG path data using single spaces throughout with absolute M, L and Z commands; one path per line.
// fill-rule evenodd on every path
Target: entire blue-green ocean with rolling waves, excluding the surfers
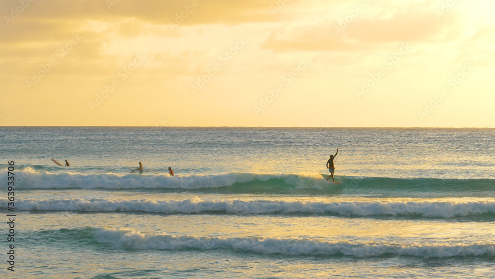
M 0 127 L 0 276 L 495 278 L 494 154 L 495 129 Z

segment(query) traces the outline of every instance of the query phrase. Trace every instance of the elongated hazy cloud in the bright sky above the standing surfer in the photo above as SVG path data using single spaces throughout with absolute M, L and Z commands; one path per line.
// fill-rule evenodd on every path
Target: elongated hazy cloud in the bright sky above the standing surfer
M 284 26 L 272 32 L 261 47 L 274 52 L 357 51 L 374 49 L 377 44 L 441 42 L 455 36 L 453 22 L 439 21 L 432 13 L 344 20 Z

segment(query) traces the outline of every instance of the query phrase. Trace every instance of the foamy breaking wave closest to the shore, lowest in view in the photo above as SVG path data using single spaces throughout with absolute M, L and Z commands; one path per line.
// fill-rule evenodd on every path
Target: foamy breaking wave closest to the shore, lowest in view
M 389 242 L 323 241 L 309 238 L 263 237 L 198 237 L 175 236 L 166 233 L 145 234 L 129 229 L 82 228 L 38 232 L 44 239 L 74 241 L 104 245 L 106 249 L 128 250 L 230 250 L 267 255 L 288 256 L 414 256 L 422 258 L 494 257 L 495 243 L 470 244 L 400 244 Z

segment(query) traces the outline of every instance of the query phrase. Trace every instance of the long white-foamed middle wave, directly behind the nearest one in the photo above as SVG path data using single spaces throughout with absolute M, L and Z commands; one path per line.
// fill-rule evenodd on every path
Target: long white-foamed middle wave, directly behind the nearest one
M 0 208 L 8 200 L 0 198 Z M 425 218 L 454 218 L 495 215 L 494 202 L 287 202 L 204 201 L 198 197 L 182 201 L 116 200 L 116 199 L 20 199 L 16 210 L 76 211 L 76 212 L 144 212 L 163 214 L 311 214 L 337 216 L 404 216 Z

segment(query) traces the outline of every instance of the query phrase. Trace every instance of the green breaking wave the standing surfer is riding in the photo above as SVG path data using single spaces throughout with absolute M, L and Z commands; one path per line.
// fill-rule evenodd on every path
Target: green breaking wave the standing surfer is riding
M 437 179 L 339 176 L 342 184 L 328 183 L 322 174 L 225 173 L 211 175 L 83 174 L 40 172 L 31 168 L 16 172 L 20 189 L 163 189 L 214 193 L 350 194 L 364 196 L 493 196 L 495 179 Z M 0 173 L 6 181 L 6 171 Z M 444 195 L 445 196 L 445 195 Z

